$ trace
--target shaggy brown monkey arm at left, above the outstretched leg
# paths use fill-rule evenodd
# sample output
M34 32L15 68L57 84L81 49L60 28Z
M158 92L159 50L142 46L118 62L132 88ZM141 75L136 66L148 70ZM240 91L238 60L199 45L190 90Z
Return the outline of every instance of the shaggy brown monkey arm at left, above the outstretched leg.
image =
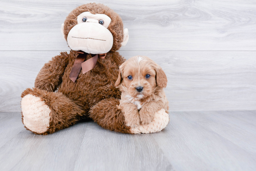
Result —
M69 61L67 52L53 57L38 73L35 87L46 91L55 91L62 82L62 76Z

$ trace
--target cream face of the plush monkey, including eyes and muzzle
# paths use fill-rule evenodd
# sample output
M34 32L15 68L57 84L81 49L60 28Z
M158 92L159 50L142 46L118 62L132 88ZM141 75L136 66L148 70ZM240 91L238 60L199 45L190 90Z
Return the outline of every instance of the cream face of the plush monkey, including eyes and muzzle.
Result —
M107 29L111 22L105 14L83 12L77 17L78 24L68 33L67 42L72 50L89 54L107 53L113 45L113 36Z

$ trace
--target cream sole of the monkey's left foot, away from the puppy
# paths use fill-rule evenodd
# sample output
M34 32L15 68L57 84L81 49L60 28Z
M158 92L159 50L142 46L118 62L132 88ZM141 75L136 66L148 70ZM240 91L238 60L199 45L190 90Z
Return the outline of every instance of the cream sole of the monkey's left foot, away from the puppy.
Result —
M38 134L42 134L49 128L49 106L39 97L27 94L21 99L23 123L26 128Z

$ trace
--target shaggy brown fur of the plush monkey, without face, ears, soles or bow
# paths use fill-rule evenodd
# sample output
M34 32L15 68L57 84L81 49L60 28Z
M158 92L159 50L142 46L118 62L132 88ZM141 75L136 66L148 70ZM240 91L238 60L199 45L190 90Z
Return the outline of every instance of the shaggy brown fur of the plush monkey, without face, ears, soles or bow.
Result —
M102 4L85 4L67 16L64 23L66 39L68 32L77 24L77 16L85 11L106 14L111 18L108 30L114 37L113 47L104 59L97 60L94 69L85 74L82 74L81 70L75 82L71 81L69 74L78 56L76 51L71 50L69 54L61 52L43 66L37 75L35 88L26 89L21 95L34 95L49 106L50 126L43 135L67 128L84 117L92 118L103 128L131 133L130 127L125 126L121 110L117 108L117 99L120 99L121 93L115 88L118 67L125 61L115 52L123 41L123 22L117 13ZM86 60L89 58L91 55L87 55Z

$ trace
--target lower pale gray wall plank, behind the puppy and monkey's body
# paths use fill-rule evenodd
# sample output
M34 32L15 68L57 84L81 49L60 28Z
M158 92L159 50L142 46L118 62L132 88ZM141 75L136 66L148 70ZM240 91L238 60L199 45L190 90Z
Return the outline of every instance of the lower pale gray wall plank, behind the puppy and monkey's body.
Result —
M0 51L0 111L20 111L20 95L59 51ZM152 58L165 71L170 111L256 110L252 51L120 51Z

